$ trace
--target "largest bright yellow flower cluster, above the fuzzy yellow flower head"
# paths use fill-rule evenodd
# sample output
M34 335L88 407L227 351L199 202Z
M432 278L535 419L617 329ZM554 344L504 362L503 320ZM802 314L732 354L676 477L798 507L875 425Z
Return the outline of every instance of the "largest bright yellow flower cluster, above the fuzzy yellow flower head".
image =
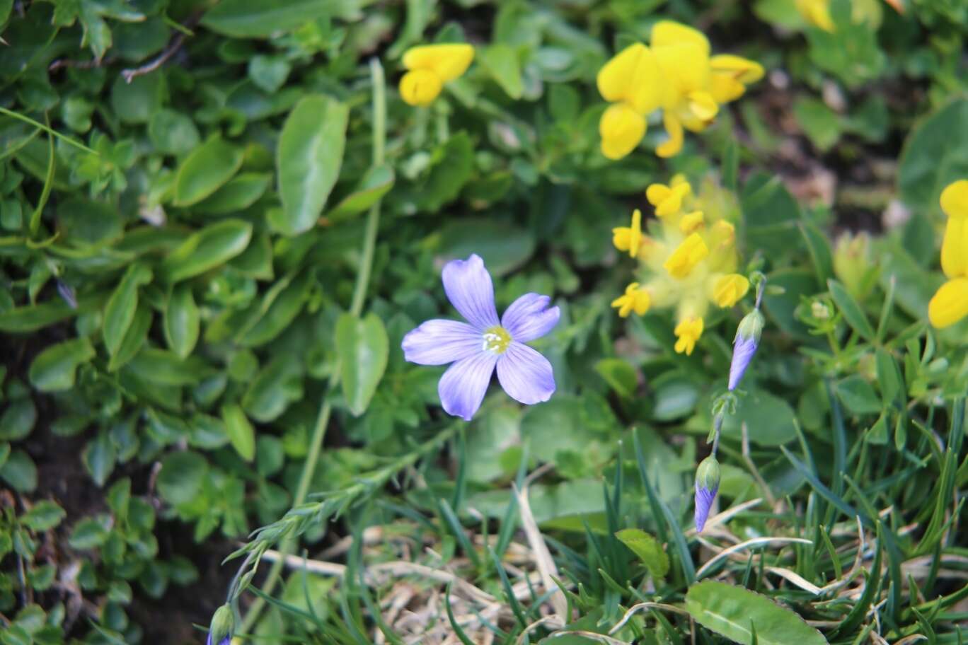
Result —
M669 138L655 152L673 157L682 149L683 129L706 129L719 105L739 99L762 77L759 63L711 56L709 40L692 27L657 22L650 46L630 44L598 72L598 91L611 103L598 124L602 154L618 160L632 152L646 134L646 118L661 108Z

